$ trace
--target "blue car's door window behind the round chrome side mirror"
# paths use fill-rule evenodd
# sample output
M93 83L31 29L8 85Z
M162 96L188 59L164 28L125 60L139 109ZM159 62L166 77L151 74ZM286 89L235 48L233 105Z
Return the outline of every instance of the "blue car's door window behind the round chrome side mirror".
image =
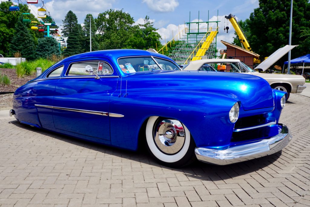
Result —
M102 61L79 62L70 65L67 75L94 75L94 73L97 75L111 75L113 74L113 69Z

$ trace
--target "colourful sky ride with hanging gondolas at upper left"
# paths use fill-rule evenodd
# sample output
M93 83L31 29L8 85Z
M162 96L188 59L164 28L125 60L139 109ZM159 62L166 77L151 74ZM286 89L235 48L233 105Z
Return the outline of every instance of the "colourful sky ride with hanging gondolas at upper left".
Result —
M8 1L11 1L11 0L8 0ZM12 11L12 12L20 11L20 8L19 8L20 0L17 0L17 1L18 1L18 5L15 6L12 3L12 5L9 7L9 11ZM47 10L46 6L44 5L44 1L43 0L41 1L42 1L42 7L38 9L37 17L41 18L42 20L40 20L39 22L32 21L30 13L22 13L23 23L29 24L32 30L45 33L44 37L55 38L59 44L59 49L61 47L65 47L65 41L64 41L64 38L62 38L62 36L59 34L58 26L55 24L55 21L50 16L50 12ZM38 0L26 0L26 2L27 4L38 4ZM30 5L28 5L28 7L32 9ZM47 15L47 12L48 12L48 15Z

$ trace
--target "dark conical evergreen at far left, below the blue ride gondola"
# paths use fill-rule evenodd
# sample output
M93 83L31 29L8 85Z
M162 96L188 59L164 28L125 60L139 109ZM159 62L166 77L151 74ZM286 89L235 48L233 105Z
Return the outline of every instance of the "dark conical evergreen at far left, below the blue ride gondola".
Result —
M15 24L15 31L10 44L11 55L14 55L15 52L20 52L22 57L33 60L35 58L34 39L29 29L23 24L22 15L20 15L19 20Z

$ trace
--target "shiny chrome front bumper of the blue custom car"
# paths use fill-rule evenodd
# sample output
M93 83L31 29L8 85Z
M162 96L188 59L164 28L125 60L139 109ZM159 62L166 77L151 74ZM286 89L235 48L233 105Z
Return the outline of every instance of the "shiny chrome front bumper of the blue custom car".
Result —
M269 139L230 146L226 150L196 147L195 154L197 159L202 162L226 165L271 155L282 150L291 139L289 128L283 125L281 132Z

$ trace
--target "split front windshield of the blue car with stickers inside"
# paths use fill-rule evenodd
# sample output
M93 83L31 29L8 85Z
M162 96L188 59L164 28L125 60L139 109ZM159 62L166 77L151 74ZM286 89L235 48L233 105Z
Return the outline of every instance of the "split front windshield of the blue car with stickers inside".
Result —
M118 65L124 73L137 73L150 70L180 70L172 61L162 58L143 56L118 59Z

